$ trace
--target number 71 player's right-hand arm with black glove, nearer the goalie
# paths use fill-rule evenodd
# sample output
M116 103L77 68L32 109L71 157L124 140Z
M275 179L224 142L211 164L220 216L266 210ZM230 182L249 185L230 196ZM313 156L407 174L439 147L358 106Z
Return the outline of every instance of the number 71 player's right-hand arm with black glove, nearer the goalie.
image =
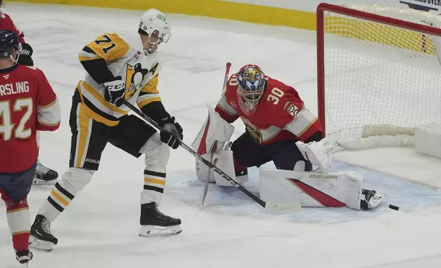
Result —
M149 83L144 85L136 99L136 104L143 113L149 116L149 118L155 120L157 124L160 124L160 126L168 131L168 133L161 132L161 140L171 148L176 149L179 146L179 143L175 137L183 139L183 130L181 125L178 122L175 122L175 117L170 116L170 113L168 113L164 105L162 105L159 94L160 92L157 90L158 78L159 75L155 75ZM169 133L172 133L173 136Z

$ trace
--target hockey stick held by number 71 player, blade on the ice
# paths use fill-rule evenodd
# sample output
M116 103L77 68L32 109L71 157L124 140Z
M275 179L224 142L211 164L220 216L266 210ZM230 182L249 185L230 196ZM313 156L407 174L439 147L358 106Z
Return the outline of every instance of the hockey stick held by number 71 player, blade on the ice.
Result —
M149 123L151 126L155 127L155 129L162 131L162 132L165 132L165 133L169 133L162 126L157 124L157 122L155 122L155 120L149 118L149 116L147 116L145 113L140 111L140 109L138 109L137 107L135 107L134 105L129 103L127 100L123 100L123 104L125 106L129 107L129 109L131 109L131 111L138 114L138 116L140 116L144 121ZM169 134L173 135L172 133L169 133ZM205 160L201 155L199 155L196 151L194 151L190 146L188 146L187 144L182 142L178 137L175 137L175 139L177 139L179 141L179 145L182 148L184 148L187 152L190 152L190 154L192 154L194 157L197 157L200 161L202 161L202 163L207 165L207 167L210 167L210 170L211 169L214 170L214 172L216 172L217 174L219 174L220 176L225 178L225 180L227 180L229 183L231 183L231 185L238 188L240 191L242 191L242 193L246 194L249 198L251 198L257 204L260 204L260 206L262 206L264 209L273 210L273 211L298 211L301 209L300 204L265 202L264 200L258 198L253 193L251 193L251 191L248 191L247 189L245 189L245 187L240 185L236 180L234 180L233 178L228 176L225 172L223 172L222 170L219 170L216 167L216 165L213 165L209 161Z

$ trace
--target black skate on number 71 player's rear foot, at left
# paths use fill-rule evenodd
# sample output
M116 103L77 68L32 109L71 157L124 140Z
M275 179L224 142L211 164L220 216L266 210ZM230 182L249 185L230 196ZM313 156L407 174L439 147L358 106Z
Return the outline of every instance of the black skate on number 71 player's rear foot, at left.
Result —
M57 245L58 239L51 234L51 222L43 215L35 217L34 224L31 226L31 236L29 246L36 250L51 252L53 246Z

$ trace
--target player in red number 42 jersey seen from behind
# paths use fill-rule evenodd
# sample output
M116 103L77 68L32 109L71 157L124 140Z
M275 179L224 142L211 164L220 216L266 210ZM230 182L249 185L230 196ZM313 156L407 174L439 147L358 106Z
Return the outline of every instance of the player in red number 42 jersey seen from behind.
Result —
M36 131L60 126L60 106L41 70L17 64L21 45L13 31L0 30L0 193L16 259L31 260L27 194L36 172Z

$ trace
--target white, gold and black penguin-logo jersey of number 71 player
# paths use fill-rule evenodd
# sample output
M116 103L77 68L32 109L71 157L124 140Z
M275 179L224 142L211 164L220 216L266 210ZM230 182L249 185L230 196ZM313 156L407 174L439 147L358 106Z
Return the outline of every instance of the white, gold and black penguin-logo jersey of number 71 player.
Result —
M125 81L125 99L140 109L161 101L157 83L162 64L156 52L144 55L142 49L131 46L118 34L104 34L84 47L79 61L87 71L86 79L77 85L81 102L86 105L88 116L98 122L115 126L130 111L125 105L109 103L102 83L114 77Z

